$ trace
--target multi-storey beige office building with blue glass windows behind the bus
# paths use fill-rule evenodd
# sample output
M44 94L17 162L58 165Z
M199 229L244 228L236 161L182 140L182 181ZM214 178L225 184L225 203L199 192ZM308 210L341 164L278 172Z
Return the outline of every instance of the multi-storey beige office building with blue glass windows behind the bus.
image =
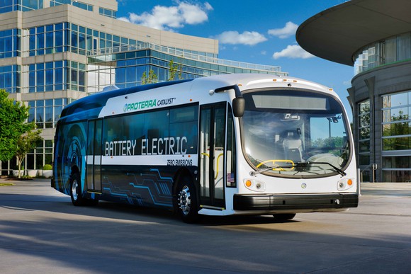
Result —
M43 146L25 169L52 163L55 125L64 105L111 86L227 73L287 75L280 67L218 59L218 40L117 20L115 0L0 1L0 89L30 105L28 122L43 130ZM13 161L1 163L2 173Z

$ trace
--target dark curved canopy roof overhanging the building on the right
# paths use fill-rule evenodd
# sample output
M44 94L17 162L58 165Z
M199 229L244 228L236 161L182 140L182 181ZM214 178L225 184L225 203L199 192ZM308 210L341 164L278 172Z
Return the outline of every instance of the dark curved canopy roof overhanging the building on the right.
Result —
M410 0L351 0L309 18L295 36L311 54L352 66L361 47L410 32L410 14Z

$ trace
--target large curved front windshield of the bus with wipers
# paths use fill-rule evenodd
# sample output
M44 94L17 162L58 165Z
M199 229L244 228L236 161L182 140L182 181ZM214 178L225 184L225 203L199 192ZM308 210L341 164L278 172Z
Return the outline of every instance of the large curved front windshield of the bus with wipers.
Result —
M344 174L349 123L337 100L313 91L244 93L242 142L257 173L307 178Z

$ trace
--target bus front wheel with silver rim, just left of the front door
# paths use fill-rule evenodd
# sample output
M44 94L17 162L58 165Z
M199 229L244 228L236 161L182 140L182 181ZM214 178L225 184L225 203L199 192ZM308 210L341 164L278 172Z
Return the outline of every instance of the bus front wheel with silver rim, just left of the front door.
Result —
M177 214L183 222L191 224L198 221L196 187L190 178L183 177L177 182L176 201L174 205Z

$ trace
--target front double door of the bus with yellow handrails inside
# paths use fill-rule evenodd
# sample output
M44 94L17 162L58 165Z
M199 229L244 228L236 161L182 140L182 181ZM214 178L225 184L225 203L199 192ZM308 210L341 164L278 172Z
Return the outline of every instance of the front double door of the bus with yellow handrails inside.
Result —
M200 204L225 208L225 105L203 105L200 114Z

